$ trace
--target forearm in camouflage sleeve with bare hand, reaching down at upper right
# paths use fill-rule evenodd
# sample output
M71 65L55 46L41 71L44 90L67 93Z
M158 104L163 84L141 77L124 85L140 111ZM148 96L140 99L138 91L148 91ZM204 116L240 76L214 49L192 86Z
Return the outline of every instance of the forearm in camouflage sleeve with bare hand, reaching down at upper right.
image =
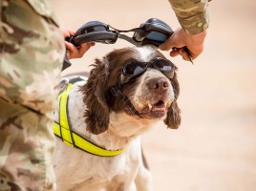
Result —
M189 60L188 54L182 47L186 46L192 59L203 52L203 42L209 25L208 1L169 0L182 28L160 46L160 50L169 51L171 56L181 54ZM186 3L185 3L186 2ZM178 48L178 49L174 49Z

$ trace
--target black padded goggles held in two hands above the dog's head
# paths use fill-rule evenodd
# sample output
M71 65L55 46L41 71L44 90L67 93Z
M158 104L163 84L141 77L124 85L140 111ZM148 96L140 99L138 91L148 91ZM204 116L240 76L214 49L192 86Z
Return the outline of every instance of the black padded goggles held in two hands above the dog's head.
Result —
M130 37L125 34L127 32L134 32L134 34ZM74 36L70 36L65 40L73 43L76 47L87 42L114 44L117 42L117 38L124 39L137 47L143 45L159 47L160 44L165 42L172 34L172 29L157 18L150 18L145 23L142 23L139 28L128 31L117 30L100 21L91 21L80 27ZM186 47L184 48L185 52L189 55L188 49ZM190 56L189 58L192 62ZM71 65L67 58L65 58L64 67L65 65Z

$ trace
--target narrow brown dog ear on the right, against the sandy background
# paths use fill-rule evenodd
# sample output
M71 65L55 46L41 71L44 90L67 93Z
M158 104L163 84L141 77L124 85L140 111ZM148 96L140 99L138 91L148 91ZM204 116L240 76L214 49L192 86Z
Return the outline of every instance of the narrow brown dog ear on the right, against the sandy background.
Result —
M180 85L177 79L177 73L175 72L174 77L171 79L171 83L174 90L174 101L168 108L167 117L164 119L165 124L168 128L178 129L181 124L181 109L178 106L177 99L180 95Z

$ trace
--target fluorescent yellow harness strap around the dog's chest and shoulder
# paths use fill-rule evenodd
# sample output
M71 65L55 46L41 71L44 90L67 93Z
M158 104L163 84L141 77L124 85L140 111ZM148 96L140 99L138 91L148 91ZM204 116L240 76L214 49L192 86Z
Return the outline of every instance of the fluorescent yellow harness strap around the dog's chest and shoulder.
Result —
M69 93L73 87L73 83L69 82L64 91L58 96L59 102L59 124L53 122L53 133L58 138L61 138L66 144L81 149L82 151L100 157L115 157L123 152L123 149L117 151L109 151L97 146L86 138L75 133L69 125L68 111L68 98Z

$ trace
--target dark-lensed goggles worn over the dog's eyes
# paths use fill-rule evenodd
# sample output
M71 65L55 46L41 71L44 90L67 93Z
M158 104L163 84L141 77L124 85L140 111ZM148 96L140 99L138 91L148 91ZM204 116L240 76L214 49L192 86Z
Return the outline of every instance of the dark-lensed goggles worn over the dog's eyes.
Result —
M173 78L175 66L174 64L162 57L156 57L150 62L139 62L138 60L129 61L123 68L122 68L122 80L121 84L125 84L140 74L143 74L148 67L155 68L159 70L162 74L165 74L168 78Z

